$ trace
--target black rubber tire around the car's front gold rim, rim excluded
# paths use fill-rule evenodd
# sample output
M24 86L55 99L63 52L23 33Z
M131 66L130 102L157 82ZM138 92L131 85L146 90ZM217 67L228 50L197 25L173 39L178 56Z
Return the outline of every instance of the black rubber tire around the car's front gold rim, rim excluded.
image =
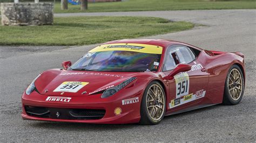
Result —
M163 93L163 98L161 98L161 103L159 102L158 104L162 104L163 100L164 103L163 105L161 105L161 107L163 108L163 110L160 110L161 108L158 108L159 113L160 113L161 117L159 116L157 120L154 120L149 113L149 110L147 108L147 92L150 90L150 88L156 85L158 87L160 87L161 92ZM152 109L153 110L153 109ZM156 111L157 112L157 111ZM143 98L142 98L142 103L140 104L140 121L139 124L141 125L156 125L159 124L161 120L163 120L164 116L165 116L165 112L166 112L166 97L165 97L165 91L163 89L163 87L161 86L161 84L157 81L152 81L149 85L147 85L146 90L144 91L143 94Z

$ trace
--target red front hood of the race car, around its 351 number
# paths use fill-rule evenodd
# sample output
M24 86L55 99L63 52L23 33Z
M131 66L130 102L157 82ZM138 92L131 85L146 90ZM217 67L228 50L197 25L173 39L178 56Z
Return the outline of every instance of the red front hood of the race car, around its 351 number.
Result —
M138 73L51 69L45 71L39 78L37 78L35 86L37 91L43 95L91 95L116 86L136 74ZM63 84L64 82L83 82L86 85L75 92L56 91L60 84Z

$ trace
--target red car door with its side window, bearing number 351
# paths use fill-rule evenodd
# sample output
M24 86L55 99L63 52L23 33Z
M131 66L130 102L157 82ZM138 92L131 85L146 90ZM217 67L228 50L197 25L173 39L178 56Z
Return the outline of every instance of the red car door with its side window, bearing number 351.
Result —
M205 66L197 61L197 56L190 47L172 45L167 47L163 71L169 75L180 63L191 66L190 71L178 73L169 79L169 110L177 111L190 106L199 105L205 97L208 73Z

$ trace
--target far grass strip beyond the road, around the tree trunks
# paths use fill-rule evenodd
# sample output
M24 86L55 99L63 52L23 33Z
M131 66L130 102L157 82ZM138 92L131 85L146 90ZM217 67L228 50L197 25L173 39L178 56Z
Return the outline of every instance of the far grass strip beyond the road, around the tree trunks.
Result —
M210 0L126 0L124 2L89 3L88 10L80 11L79 5L69 4L69 10L60 10L55 4L55 13L149 11L149 10L207 10L207 9L256 9L255 0L218 1Z

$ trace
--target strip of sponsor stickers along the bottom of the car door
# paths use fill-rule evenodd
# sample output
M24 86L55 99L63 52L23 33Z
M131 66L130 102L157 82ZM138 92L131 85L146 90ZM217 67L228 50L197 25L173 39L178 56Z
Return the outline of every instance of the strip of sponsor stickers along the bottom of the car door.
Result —
M191 101L195 101L199 98L203 98L203 97L205 97L205 92L206 91L204 91L204 90L199 90L199 91L196 92L196 94L188 94L188 95L176 98L176 99L172 99L171 103L169 103L169 108L170 109L175 108L175 107L180 106L182 104L185 104L185 103L188 103L188 102L191 102Z

